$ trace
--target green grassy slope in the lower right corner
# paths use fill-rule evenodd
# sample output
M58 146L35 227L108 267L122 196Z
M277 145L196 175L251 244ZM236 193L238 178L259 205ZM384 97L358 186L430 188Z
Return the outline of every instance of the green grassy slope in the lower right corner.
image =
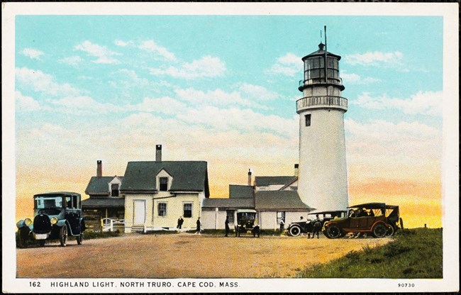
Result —
M349 252L338 260L313 265L299 273L306 278L441 279L442 229L399 230L387 245Z

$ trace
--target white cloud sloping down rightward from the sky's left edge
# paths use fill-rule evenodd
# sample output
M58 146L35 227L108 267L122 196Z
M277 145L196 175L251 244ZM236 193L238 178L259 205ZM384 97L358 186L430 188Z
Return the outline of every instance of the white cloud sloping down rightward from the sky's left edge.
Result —
M57 95L77 95L79 90L70 84L59 84L55 82L54 77L45 74L40 70L28 69L27 67L16 67L16 81L24 87L30 87L34 91L43 92L44 94ZM18 87L18 86L16 86Z

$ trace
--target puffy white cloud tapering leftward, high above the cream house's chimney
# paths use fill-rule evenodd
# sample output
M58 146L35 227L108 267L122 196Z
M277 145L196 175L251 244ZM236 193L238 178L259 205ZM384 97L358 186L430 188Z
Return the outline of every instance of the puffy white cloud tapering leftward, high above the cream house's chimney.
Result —
M167 67L165 69L150 69L150 74L156 76L170 76L182 79L222 77L226 71L226 64L218 57L209 55L200 60L184 62L180 67Z

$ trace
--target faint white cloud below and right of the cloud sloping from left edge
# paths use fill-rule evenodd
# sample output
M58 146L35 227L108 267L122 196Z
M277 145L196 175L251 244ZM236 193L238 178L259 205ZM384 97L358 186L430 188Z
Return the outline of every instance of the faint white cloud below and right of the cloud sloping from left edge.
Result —
M57 107L55 111L59 111L60 113L72 113L80 116L117 113L126 110L123 106L101 104L90 96L67 96L63 99L48 100L48 102Z

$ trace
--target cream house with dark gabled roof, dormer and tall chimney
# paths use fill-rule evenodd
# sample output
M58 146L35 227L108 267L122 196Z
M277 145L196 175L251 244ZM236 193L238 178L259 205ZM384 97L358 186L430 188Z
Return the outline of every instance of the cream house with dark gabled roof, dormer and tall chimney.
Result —
M160 148L160 157L159 157ZM125 233L172 230L179 216L183 230L196 227L204 199L209 198L207 163L162 161L128 162L120 192L125 199Z

